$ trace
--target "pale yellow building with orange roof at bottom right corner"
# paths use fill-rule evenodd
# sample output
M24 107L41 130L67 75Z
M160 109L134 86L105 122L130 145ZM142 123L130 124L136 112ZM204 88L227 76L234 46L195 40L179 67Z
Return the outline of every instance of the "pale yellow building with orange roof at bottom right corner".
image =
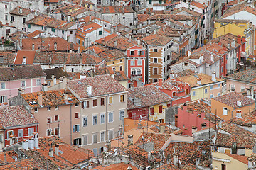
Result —
M226 154L220 152L212 152L213 169L231 170L231 169L248 169L247 156L238 154Z

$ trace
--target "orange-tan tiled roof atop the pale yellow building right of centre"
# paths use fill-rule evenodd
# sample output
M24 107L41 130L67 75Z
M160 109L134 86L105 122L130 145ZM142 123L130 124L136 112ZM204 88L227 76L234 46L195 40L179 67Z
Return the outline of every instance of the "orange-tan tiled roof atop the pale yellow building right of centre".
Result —
M211 76L209 76L207 74L203 74L203 73L178 77L178 79L183 81L183 82L188 83L189 85L191 85L191 87L195 87L195 86L198 86L197 77L201 78L201 85L215 83L215 81L211 80ZM220 78L217 78L217 77L215 79L216 79L216 81L224 81L223 79L220 79Z

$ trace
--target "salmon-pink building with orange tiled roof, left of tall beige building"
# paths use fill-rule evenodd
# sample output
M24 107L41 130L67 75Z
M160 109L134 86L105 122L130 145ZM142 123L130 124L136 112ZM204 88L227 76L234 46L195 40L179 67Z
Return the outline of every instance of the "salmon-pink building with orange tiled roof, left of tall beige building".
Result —
M55 135L70 145L79 145L80 101L70 91L40 91L11 98L11 106L23 105L39 121L41 137Z

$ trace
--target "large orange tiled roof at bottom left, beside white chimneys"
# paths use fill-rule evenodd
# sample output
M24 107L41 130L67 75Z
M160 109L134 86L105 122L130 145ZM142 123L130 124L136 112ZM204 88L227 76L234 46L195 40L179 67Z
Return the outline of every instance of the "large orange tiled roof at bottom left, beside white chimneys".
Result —
M51 145L55 148L55 144L59 144L59 156L53 154L54 157L48 155ZM55 150L55 149L54 149ZM41 169L68 169L68 167L77 166L92 157L92 151L75 147L62 142L56 137L44 137L39 139L39 149L21 151L33 161L38 163ZM55 152L55 151L54 151Z

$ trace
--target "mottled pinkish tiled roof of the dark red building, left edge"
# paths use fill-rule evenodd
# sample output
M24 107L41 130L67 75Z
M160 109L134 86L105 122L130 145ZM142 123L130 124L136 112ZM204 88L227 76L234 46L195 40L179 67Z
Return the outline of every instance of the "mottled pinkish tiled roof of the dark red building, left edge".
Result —
M38 123L38 120L32 118L23 106L10 106L0 108L0 123L7 128L35 124Z

